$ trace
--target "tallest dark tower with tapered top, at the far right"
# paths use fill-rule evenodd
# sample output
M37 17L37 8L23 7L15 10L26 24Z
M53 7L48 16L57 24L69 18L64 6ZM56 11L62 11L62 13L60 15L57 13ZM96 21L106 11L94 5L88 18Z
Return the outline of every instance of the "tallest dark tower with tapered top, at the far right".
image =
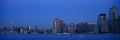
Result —
M119 28L119 16L118 16L118 8L113 6L109 10L109 30L112 33L117 33Z

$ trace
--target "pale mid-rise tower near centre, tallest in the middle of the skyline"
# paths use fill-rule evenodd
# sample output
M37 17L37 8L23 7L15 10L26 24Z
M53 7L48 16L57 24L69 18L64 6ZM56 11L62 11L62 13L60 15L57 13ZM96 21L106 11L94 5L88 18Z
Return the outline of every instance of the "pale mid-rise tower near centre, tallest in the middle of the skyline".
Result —
M58 18L55 18L53 21L53 32L54 33L63 33L64 21Z

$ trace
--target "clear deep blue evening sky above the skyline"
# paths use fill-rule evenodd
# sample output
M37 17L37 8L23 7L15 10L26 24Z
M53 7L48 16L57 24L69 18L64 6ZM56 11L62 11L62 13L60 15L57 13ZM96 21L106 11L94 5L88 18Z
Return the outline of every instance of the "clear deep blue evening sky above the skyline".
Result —
M65 23L96 23L100 13L108 14L119 0L2 0L0 24L52 27L55 17Z

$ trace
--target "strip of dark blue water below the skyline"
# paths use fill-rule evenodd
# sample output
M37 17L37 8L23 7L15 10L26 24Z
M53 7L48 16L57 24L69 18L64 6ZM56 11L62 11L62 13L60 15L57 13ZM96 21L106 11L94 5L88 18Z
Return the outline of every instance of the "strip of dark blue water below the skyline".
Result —
M0 34L0 40L120 40L120 34Z

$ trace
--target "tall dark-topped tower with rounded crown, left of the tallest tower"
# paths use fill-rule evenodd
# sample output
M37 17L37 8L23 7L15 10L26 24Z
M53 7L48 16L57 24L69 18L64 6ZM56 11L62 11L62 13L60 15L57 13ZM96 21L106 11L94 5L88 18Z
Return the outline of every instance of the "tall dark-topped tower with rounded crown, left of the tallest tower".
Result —
M109 32L107 17L106 17L105 13L101 13L98 16L97 27L98 27L98 32L99 33L107 33L107 32Z

